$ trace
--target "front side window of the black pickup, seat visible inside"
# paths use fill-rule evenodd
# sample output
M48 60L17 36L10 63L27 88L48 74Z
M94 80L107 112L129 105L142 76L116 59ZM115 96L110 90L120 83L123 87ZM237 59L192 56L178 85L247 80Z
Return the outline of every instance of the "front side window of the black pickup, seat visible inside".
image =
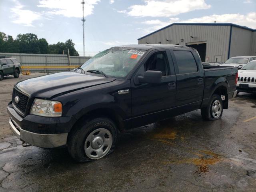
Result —
M166 52L157 52L152 54L144 64L145 71L161 71L162 76L170 75Z

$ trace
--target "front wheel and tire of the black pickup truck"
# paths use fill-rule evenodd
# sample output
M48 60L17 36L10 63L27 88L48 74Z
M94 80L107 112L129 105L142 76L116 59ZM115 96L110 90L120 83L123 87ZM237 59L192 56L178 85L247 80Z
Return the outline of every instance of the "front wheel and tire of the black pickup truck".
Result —
M78 123L68 135L68 152L78 162L100 159L114 151L117 127L108 118Z

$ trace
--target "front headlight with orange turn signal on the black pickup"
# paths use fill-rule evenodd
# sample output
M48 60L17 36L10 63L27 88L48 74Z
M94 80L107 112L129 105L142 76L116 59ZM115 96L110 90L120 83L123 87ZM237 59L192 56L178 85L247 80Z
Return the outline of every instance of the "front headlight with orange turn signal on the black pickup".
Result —
M35 99L30 109L30 114L44 117L60 117L62 104L58 101Z

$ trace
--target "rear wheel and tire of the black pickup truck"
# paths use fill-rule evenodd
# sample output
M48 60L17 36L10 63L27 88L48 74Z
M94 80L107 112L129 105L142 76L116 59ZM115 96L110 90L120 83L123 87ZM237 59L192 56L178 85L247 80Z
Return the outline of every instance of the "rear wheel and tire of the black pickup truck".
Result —
M201 108L201 115L204 120L218 120L222 117L223 102L218 94L214 94L205 108Z

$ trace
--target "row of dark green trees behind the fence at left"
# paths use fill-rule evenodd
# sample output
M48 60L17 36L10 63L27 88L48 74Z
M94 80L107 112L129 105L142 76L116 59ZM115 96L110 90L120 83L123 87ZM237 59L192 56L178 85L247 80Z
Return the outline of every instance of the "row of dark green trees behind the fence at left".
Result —
M7 36L0 32L0 52L8 53L40 53L40 54L62 54L63 50L67 53L69 49L70 56L79 56L74 48L72 39L65 43L48 44L45 38L38 39L36 34L26 33L18 34L14 40L12 36Z

